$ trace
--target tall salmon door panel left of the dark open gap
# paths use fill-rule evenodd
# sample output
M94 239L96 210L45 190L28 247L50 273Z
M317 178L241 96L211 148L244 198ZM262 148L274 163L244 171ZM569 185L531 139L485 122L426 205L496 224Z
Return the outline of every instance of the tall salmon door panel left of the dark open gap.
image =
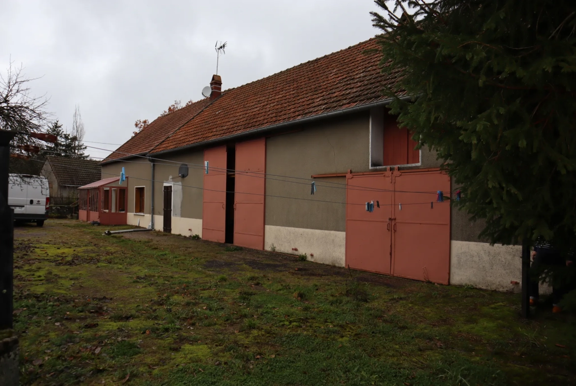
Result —
M223 243L226 230L226 146L204 150L203 193L202 238Z

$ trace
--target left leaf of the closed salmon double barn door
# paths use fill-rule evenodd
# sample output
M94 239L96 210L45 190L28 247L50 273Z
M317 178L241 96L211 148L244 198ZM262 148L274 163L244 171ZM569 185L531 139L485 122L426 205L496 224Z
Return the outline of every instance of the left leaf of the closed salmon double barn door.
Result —
M389 274L393 198L391 172L348 174L346 181L346 266ZM371 201L374 201L374 211L367 212L365 204Z

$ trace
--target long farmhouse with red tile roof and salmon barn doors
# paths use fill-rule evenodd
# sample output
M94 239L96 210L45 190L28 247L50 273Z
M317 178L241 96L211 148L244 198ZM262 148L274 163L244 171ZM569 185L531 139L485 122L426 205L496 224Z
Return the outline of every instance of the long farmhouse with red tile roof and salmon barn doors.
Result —
M224 91L214 75L209 97L158 117L102 162L102 178L125 170L127 223L514 289L518 247L479 240L482 224L450 207L457 187L434 152L415 150L388 114L381 89L396 78L366 53L377 47L370 39Z

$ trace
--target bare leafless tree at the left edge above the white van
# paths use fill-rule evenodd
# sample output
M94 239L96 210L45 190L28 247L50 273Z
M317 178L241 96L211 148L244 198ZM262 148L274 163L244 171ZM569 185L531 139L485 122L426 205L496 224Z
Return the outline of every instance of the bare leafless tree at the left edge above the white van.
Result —
M0 130L18 132L12 141L14 153L23 153L16 148L18 145L43 146L41 141L26 133L45 132L50 123L46 96L35 97L31 94L29 82L33 80L26 78L24 67L15 67L12 60L6 73L0 73ZM41 167L41 162L10 160L10 171L13 173L38 174Z

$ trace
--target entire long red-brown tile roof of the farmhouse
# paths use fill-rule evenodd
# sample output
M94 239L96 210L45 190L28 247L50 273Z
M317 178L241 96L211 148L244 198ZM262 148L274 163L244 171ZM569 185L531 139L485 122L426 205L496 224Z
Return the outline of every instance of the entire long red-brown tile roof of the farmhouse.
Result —
M370 49L376 51L365 52ZM146 133L148 142L134 146L138 150L126 152L148 151L153 154L177 150L253 129L384 101L387 97L382 95L383 85L393 85L399 73L382 74L381 54L377 49L377 40L373 38L270 77L225 90L215 100L206 98L195 102L189 108L194 107L196 114L180 128L172 125L170 130L161 129L159 120L165 117L160 117L153 122L158 121L153 129L149 129L152 124L146 127L149 129ZM129 148L131 142L135 143L138 135L128 140L119 151L125 151L122 149ZM120 156L113 154L103 162Z

